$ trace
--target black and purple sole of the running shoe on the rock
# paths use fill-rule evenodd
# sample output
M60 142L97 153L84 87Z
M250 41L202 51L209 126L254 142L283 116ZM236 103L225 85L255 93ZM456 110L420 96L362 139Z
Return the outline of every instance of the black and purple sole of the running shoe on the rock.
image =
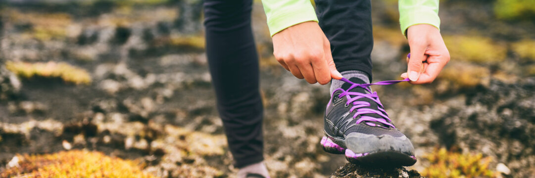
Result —
M324 136L320 144L323 150L333 154L345 154L351 164L370 166L412 166L416 163L416 157L399 151L378 151L366 153L354 153L335 143L334 138Z

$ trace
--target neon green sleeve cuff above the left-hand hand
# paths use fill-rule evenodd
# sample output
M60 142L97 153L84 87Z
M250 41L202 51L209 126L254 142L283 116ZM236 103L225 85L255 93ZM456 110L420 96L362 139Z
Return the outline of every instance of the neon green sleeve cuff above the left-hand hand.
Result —
M318 21L310 0L262 0L271 36L305 21Z

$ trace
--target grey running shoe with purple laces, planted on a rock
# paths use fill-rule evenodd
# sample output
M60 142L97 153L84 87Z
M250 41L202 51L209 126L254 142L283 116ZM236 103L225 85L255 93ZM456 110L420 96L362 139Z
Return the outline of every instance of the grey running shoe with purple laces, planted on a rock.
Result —
M388 117L372 85L394 84L406 80L367 84L349 80L332 92L324 119L325 136L320 142L326 152L345 154L359 165L411 166L416 163L414 146Z

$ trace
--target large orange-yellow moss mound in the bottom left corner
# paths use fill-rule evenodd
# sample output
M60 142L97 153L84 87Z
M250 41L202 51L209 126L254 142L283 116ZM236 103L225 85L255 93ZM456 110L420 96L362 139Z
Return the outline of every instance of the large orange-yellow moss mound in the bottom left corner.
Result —
M72 150L18 157L19 166L5 170L0 177L155 177L143 173L137 161L109 157L101 152Z

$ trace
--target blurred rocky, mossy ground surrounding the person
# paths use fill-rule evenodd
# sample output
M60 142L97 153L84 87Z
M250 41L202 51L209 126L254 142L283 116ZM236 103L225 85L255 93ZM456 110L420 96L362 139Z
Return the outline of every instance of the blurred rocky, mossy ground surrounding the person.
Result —
M397 1L372 1L373 81L409 52ZM260 1L265 158L272 177L328 177L328 86L279 66ZM432 84L373 87L430 177L535 175L535 1L441 1L451 61ZM236 170L204 53L200 0L0 3L0 177L228 177ZM284 138L284 139L282 139ZM299 150L299 151L296 151ZM106 173L106 174L104 174Z

